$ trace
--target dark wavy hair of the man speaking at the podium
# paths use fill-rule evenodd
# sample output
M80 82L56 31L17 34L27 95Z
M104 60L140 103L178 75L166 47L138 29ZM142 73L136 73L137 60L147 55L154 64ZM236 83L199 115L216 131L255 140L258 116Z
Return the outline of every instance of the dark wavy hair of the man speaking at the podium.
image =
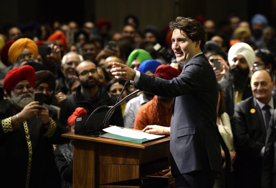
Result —
M179 16L175 19L175 21L171 21L169 26L172 31L175 29L183 31L193 42L201 41L200 49L201 51L203 50L206 43L206 34L198 21L192 19L191 17L185 18Z

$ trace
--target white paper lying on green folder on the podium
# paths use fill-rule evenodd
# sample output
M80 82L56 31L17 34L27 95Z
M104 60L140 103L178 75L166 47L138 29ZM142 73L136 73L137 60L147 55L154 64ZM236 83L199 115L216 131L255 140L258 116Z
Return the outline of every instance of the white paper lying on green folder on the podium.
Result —
M116 134L120 136L125 136L125 137L130 137L130 138L136 138L136 139L156 139L160 137L164 137L165 135L156 135L156 134L149 134L141 131L135 131L127 128L120 128L117 126L112 126L103 129L105 132L111 133L111 134Z

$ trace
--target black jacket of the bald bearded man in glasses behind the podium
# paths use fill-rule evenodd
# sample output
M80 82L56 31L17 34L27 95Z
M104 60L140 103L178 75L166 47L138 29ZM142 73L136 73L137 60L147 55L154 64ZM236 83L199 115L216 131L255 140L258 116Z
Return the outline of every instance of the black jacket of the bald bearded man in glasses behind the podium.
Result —
M94 100L87 101L81 93L81 85L77 87L76 93L67 97L61 104L60 108L60 123L63 126L67 125L67 120L77 107L83 107L87 111L87 115L91 114L97 107L102 105L114 105L116 97L110 95L104 88L99 86L98 97ZM102 108L99 112L107 111L107 108ZM123 127L124 121L121 107L118 106L110 118L110 125Z

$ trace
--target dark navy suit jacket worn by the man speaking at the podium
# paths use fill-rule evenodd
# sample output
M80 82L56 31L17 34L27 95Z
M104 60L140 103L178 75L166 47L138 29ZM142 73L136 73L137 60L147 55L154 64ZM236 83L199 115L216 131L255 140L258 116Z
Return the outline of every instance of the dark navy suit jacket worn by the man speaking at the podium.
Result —
M216 135L218 84L203 54L188 60L173 80L141 73L136 87L163 97L175 97L170 127L172 173L221 171L221 148Z

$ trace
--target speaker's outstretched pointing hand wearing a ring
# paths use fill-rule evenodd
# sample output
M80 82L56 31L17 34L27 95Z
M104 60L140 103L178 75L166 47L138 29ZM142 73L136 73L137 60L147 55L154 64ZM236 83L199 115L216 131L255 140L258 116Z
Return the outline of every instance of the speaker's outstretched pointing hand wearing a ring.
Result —
M112 67L110 72L116 79L134 80L136 71L129 68L127 65L114 62Z

